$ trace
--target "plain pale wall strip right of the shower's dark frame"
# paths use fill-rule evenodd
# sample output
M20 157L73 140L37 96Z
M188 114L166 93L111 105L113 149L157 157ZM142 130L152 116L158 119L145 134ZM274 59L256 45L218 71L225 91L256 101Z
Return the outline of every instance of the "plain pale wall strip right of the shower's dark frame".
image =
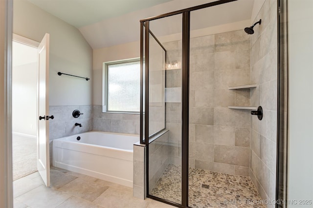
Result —
M288 19L288 199L313 200L313 1L289 0Z

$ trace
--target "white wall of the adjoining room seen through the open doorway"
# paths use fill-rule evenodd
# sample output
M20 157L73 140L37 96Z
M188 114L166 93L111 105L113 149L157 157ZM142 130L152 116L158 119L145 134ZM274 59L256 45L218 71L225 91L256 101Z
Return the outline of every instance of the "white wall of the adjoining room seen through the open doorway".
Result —
M13 42L12 131L37 136L37 48Z

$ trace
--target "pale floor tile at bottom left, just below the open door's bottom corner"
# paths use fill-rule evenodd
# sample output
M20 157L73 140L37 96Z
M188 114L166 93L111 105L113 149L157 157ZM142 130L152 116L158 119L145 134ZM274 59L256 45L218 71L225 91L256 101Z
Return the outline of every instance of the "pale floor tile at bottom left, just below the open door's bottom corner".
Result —
M70 195L44 185L16 198L31 208L55 208L65 202Z

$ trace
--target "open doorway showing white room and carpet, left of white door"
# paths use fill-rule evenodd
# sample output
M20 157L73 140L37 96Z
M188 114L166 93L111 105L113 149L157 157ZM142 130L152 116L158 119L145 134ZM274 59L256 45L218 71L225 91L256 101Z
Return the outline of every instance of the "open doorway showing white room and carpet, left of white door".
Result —
M37 50L12 42L13 181L37 171Z

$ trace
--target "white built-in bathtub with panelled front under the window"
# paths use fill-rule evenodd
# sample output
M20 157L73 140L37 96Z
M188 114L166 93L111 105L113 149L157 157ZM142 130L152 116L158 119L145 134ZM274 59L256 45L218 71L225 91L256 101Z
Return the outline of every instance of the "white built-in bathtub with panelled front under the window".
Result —
M52 164L133 187L133 144L138 141L138 135L100 131L55 139Z

